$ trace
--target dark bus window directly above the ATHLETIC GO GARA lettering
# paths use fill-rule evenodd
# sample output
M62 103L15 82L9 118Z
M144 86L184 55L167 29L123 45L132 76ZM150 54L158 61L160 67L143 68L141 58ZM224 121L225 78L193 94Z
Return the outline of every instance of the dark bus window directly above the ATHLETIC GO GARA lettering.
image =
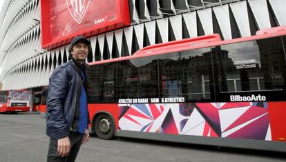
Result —
M118 63L119 98L159 97L158 59L144 57Z

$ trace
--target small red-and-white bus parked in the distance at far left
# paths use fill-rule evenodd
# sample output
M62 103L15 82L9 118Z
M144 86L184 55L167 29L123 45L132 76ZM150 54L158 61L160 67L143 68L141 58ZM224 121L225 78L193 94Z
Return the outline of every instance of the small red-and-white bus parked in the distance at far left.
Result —
M30 90L0 90L0 112L26 112L30 110Z

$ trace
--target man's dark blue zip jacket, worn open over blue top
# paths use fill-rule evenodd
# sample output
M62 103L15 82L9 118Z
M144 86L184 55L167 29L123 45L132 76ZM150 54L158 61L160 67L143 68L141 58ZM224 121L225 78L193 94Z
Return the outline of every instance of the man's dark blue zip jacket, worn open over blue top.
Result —
M53 139L68 136L70 130L76 132L74 117L79 110L79 95L83 81L79 74L79 63L70 60L59 65L50 76L46 110L46 134ZM88 66L85 63L85 68ZM79 112L78 112L79 113ZM89 118L88 118L89 119Z

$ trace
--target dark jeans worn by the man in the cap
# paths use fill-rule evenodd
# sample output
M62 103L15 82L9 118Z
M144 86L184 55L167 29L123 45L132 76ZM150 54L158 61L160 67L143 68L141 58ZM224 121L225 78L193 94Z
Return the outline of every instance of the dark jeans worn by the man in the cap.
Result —
M70 132L68 138L70 139L70 153L68 156L61 157L57 153L57 139L50 138L50 145L48 147L47 162L73 162L77 158L80 145L82 145L82 139L84 134L77 132Z

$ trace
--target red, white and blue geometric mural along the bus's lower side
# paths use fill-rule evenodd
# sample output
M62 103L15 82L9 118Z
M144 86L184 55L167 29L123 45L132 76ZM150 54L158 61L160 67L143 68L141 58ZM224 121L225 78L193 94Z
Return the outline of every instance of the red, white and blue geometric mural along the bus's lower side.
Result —
M120 104L121 130L271 140L266 102Z

